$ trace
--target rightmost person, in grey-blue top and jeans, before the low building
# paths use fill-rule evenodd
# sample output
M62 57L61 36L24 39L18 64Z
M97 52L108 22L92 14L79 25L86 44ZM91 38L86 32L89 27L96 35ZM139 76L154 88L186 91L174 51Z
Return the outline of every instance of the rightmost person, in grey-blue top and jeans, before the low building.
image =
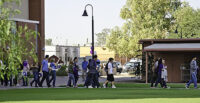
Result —
M192 59L190 62L190 81L186 84L186 88L189 88L191 83L194 83L194 88L197 89L197 62L196 62L196 57Z

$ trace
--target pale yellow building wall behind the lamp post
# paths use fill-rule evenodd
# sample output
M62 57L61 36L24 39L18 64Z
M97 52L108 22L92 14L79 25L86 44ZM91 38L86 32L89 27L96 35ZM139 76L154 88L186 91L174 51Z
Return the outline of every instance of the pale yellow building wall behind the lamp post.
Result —
M80 57L91 56L90 50L90 47L80 47ZM110 57L115 58L115 53L109 51L108 48L95 47L94 51L96 51L101 61L108 61Z

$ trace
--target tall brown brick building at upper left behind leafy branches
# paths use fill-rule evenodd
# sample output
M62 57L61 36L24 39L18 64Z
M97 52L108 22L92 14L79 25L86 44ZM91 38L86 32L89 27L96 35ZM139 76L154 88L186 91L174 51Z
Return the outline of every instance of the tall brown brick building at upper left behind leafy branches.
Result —
M19 9L20 14L11 20L15 21L16 26L27 25L29 29L39 32L39 35L33 42L36 45L38 60L44 58L45 47L45 0L21 0L21 5L12 4L14 9Z

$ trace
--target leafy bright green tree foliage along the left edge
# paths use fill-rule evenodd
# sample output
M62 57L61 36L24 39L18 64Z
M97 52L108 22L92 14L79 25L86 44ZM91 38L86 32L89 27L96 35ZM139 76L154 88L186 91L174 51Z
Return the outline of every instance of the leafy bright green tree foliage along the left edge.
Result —
M17 75L17 68L20 68L22 61L27 58L33 58L37 62L35 45L31 42L31 39L36 37L36 32L29 30L27 26L17 28L15 23L9 20L19 13L19 10L14 10L9 5L14 2L19 3L18 0L0 1L0 78L4 78L4 74L7 74L8 78Z

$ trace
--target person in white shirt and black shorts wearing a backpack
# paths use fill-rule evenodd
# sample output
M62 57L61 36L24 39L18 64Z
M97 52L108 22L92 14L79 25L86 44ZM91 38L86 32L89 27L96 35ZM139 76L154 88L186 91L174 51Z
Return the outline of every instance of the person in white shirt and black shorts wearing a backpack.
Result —
M113 58L109 58L109 62L108 62L108 75L107 75L107 80L106 82L103 84L103 87L106 88L106 84L108 82L112 83L112 88L116 88L115 83L114 83L114 68L113 68Z

